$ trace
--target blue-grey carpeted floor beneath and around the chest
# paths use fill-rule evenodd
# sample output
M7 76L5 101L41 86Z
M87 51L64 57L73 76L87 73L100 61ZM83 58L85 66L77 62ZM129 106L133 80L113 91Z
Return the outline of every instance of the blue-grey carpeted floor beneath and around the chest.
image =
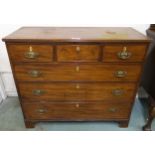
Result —
M135 101L128 128L119 128L115 122L49 122L37 123L26 129L17 97L7 98L0 106L1 131L141 131L146 121L145 104ZM155 121L152 124L155 130Z

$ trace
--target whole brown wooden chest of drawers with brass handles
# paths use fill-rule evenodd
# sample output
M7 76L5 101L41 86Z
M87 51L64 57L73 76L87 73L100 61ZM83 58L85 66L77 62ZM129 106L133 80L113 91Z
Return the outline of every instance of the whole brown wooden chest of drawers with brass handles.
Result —
M128 126L147 37L131 28L23 27L3 41L26 127L38 121Z

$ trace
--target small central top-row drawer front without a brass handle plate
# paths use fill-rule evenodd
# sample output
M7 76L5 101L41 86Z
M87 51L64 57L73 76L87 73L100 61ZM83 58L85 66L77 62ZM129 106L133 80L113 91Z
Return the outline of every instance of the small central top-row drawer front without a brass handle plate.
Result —
M101 48L97 45L59 45L57 60L59 62L86 61L94 62L100 59Z

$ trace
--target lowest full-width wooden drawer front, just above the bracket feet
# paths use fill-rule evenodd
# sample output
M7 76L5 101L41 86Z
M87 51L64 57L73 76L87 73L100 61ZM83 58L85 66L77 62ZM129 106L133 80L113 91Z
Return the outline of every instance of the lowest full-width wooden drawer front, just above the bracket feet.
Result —
M127 119L130 103L45 103L24 104L26 119L36 120L116 120Z

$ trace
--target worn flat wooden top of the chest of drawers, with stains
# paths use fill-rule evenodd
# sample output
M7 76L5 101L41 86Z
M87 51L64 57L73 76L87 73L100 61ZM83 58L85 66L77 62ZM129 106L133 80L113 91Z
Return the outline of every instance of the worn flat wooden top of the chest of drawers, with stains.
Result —
M129 27L22 27L3 38L3 41L149 42L149 39Z

